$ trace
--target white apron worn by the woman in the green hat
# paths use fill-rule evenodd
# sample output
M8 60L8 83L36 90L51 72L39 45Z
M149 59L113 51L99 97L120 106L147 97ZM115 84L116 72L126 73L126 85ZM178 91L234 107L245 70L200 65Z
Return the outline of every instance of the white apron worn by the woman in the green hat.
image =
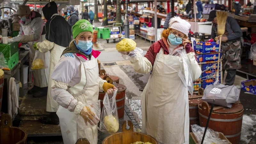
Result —
M81 81L74 87L70 87L67 91L72 94L76 100L83 103L97 101L99 97L99 68L97 59L93 56L91 60L81 61ZM60 129L64 144L75 144L77 139L86 138L91 144L97 144L98 127L82 130L76 122L74 112L68 111L67 108L59 107L57 115L60 119Z

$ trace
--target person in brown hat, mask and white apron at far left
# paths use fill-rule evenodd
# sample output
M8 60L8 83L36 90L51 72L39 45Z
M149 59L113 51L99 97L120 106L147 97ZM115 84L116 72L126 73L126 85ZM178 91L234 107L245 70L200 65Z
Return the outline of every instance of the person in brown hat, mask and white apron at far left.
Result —
M31 66L35 57L36 50L33 48L33 44L36 42L42 42L45 39L44 20L42 15L38 12L30 12L28 5L20 5L18 9L18 16L20 17L20 32L19 35L13 38L9 38L8 42L21 42L28 43L29 45L29 64ZM50 64L50 52L44 53L46 64ZM28 91L29 94L33 94L34 97L42 97L47 95L47 86L49 78L49 67L45 69L39 69L32 71L34 78L34 87Z

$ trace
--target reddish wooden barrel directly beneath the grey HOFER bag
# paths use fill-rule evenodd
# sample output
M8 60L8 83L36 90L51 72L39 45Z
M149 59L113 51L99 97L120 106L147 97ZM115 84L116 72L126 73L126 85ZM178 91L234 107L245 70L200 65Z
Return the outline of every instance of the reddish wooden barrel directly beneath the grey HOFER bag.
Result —
M205 101L198 103L200 126L206 126L211 106ZM243 113L244 107L241 102L236 102L232 108L214 105L208 127L223 133L232 144L239 144Z

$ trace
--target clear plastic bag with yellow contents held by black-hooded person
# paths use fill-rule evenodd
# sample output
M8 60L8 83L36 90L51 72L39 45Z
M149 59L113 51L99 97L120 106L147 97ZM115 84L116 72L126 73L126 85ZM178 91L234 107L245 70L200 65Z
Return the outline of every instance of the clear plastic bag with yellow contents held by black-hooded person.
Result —
M32 62L31 70L45 69L48 65L46 64L44 53L36 50L34 60Z

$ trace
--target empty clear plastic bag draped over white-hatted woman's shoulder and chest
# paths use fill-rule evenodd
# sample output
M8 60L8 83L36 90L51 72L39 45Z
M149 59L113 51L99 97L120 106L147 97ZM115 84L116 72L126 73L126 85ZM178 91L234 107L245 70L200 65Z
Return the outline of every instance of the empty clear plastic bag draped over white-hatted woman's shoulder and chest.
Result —
M180 47L172 51L169 55L176 56L166 61L168 66L178 72L178 75L182 81L182 84L188 89L188 92L193 95L193 75L190 66L190 61L187 56L187 52L184 47ZM177 57L180 61L180 67L177 67Z

